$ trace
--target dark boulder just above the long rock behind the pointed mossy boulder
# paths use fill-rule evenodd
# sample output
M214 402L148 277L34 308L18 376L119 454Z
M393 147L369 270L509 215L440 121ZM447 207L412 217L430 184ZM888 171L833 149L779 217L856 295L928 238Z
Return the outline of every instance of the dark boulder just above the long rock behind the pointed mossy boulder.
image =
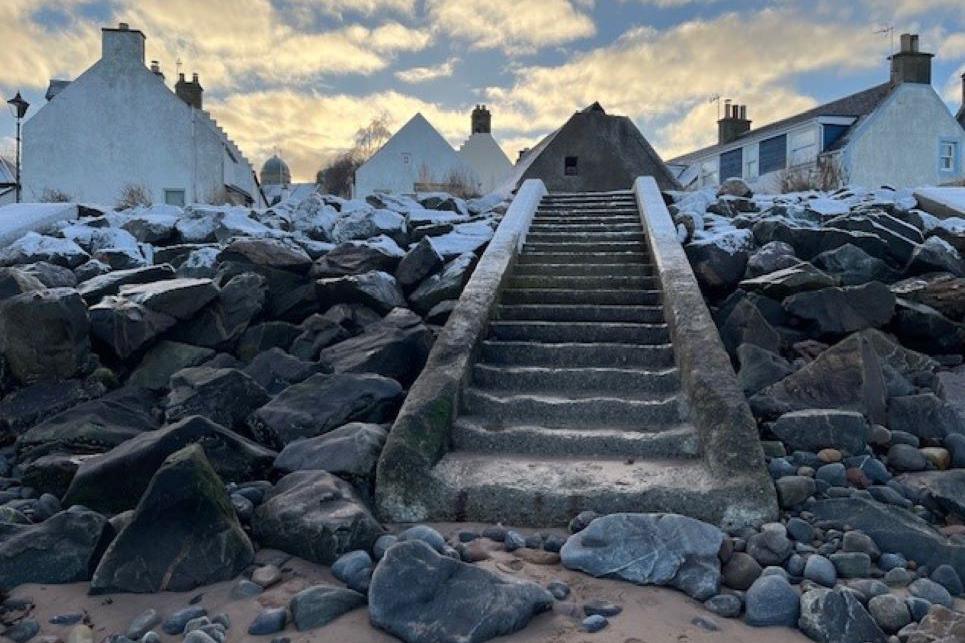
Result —
M49 453L103 453L158 428L157 397L135 387L122 388L47 418L17 438L21 459Z

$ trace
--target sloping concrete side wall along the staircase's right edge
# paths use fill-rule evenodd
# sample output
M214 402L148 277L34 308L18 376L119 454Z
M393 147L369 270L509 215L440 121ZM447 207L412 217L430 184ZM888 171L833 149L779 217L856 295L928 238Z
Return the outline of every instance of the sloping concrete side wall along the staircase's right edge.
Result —
M722 477L766 475L757 423L657 183L652 177L640 177L633 191L663 285L664 315L689 420L700 436L705 461L712 473ZM772 488L769 480L764 488Z

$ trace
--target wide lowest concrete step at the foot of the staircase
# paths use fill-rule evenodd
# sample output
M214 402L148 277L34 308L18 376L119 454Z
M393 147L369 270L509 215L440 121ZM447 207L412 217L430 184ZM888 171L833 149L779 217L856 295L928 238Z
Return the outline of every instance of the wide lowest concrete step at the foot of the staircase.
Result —
M700 459L538 457L455 451L433 468L452 518L520 526L566 525L581 511L680 513L719 524L754 486L721 480Z

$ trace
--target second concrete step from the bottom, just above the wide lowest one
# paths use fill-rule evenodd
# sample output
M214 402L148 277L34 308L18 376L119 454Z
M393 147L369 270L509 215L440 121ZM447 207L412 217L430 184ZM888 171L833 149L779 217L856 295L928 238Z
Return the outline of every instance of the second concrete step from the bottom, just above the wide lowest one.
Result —
M610 456L616 458L694 458L700 453L697 432L681 424L656 433L604 429L548 429L539 425L493 427L486 419L465 415L452 427L455 449L475 453L538 457Z

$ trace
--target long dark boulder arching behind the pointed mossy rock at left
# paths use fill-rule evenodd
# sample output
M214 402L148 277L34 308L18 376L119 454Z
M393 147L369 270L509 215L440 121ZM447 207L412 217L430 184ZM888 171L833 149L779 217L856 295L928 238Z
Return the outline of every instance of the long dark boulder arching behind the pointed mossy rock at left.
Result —
M84 505L115 514L132 509L165 459L200 444L212 468L225 482L262 480L276 454L210 420L192 416L156 431L142 433L78 468L63 504Z

